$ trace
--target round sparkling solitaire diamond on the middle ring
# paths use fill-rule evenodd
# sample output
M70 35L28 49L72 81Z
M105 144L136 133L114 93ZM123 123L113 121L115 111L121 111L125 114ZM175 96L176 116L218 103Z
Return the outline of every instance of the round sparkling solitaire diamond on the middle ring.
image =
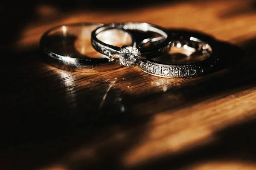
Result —
M137 48L131 46L122 47L119 54L119 60L122 65L127 67L134 67L140 63L140 51Z

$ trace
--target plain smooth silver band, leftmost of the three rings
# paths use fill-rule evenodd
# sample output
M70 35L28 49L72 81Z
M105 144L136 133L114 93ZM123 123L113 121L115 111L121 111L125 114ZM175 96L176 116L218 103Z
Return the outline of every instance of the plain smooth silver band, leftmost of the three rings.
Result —
M67 25L63 25L63 26L66 26L69 29L72 27L81 26L81 27L84 27L84 29L86 29L86 27L88 27L88 26L90 26L90 27L95 26L97 28L97 27L100 27L103 25L104 24L102 24L102 23L73 23L73 24L67 24ZM58 30L63 26L57 26L57 27L49 29L41 37L40 48L42 51L44 51L45 54L47 54L47 55L44 55L44 59L46 59L46 61L50 65L52 65L56 68L60 68L60 69L68 70L68 71L78 71L78 72L109 71L109 70L113 70L113 69L121 67L121 65L119 65L119 61L117 59L109 59L108 56L99 57L99 58L69 57L68 59L71 62L67 62L66 56L56 54L54 51L50 51L49 49L47 49L47 45L45 44L47 36L52 31ZM90 36L90 34L89 34L89 36ZM130 36L132 37L132 40L134 40L134 38L131 34L130 34Z

